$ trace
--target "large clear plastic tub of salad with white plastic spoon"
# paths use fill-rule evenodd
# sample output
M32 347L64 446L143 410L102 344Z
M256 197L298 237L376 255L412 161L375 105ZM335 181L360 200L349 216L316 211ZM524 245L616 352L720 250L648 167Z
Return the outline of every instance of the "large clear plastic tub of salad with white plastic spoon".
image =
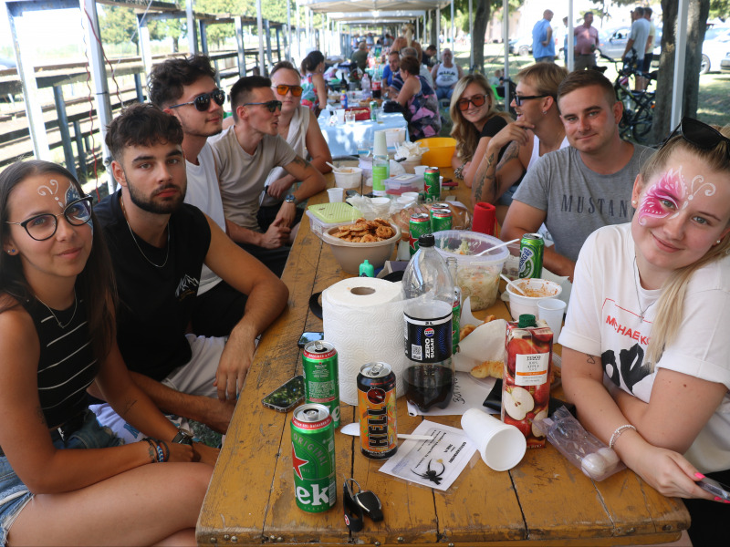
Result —
M499 274L502 273L509 251L502 247L494 253L474 255L502 242L485 233L463 230L435 232L433 237L436 240L436 250L444 259L456 257L456 284L462 290L462 298L471 296L472 311L484 310L494 304L499 288Z

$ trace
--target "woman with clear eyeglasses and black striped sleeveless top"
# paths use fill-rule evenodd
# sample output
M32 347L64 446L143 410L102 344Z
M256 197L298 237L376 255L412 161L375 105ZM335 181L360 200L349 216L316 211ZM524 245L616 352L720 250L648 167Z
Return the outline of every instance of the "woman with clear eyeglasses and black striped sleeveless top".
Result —
M0 238L0 543L195 544L213 468L172 442L121 359L91 198L56 164L16 162L0 173ZM92 383L150 437L120 446L100 428Z

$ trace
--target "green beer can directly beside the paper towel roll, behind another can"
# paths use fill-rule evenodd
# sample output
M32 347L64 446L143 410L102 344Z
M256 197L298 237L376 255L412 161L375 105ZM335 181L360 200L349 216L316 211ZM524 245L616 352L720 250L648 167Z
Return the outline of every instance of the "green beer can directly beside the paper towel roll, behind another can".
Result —
M308 403L329 408L334 428L339 428L339 376L335 346L316 340L304 346L304 395Z

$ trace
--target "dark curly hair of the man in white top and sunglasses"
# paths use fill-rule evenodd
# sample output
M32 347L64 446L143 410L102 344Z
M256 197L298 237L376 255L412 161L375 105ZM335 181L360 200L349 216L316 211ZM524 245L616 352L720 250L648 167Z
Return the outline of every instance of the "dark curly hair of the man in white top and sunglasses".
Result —
M206 76L215 79L215 69L207 56L167 59L152 67L147 86L150 102L167 108L183 97L183 86L190 86Z

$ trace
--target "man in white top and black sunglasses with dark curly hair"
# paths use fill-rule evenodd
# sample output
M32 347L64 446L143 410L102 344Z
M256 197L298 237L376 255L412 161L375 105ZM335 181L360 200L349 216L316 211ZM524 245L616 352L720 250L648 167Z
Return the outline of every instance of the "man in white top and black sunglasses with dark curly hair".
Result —
M221 132L225 93L215 83L208 57L167 59L152 67L150 101L180 120L188 190L185 203L208 215L225 232L218 173L208 137ZM193 308L193 333L227 336L244 315L245 295L203 265Z

